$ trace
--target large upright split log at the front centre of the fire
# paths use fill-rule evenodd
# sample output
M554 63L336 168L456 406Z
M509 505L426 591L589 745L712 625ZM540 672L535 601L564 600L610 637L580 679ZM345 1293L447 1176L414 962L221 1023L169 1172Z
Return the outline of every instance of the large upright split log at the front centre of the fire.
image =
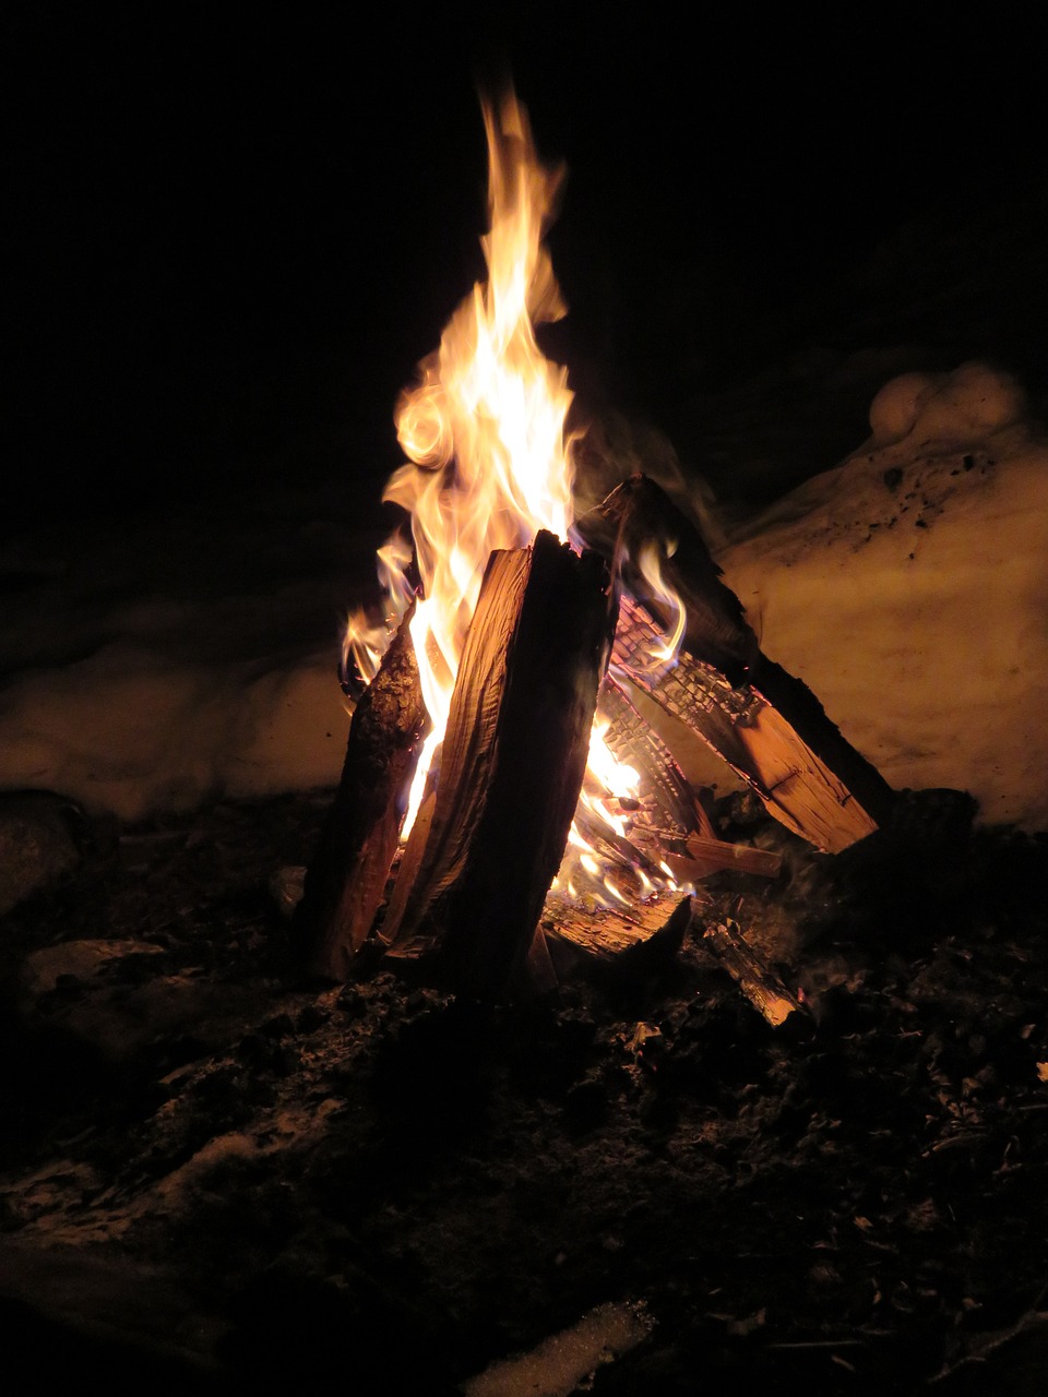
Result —
M486 997L523 974L585 771L615 629L608 570L541 531L492 553L465 640L432 821L380 936Z

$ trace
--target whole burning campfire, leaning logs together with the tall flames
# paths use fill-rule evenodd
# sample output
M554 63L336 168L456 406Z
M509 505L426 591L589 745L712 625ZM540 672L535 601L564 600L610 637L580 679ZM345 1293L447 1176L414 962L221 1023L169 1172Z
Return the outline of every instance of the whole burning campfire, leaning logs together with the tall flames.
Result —
M563 314L542 240L562 172L513 98L483 113L488 281L397 408L384 497L409 536L380 549L383 616L348 629L361 693L300 916L327 978L373 946L496 996L679 926L717 869L778 870L717 837L639 696L820 849L878 828L891 792L651 479L573 517L572 393L535 338Z

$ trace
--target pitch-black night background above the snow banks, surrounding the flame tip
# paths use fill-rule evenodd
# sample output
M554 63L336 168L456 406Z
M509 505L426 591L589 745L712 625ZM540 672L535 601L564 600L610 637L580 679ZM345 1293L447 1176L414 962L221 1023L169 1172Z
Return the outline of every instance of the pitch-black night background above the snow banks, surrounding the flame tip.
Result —
M692 458L682 404L808 342L938 337L1037 379L1033 231L998 321L995 292L970 316L954 295L945 328L925 295L936 229L953 253L971 229L970 271L1019 256L981 229L1000 242L988 210L1021 222L1042 187L1019 7L437 11L8 13L8 527L205 509L289 469L377 493L397 391L481 272L476 82L502 71L570 169L549 348L583 411L646 416ZM896 271L857 281L886 246ZM889 284L901 321L878 324Z

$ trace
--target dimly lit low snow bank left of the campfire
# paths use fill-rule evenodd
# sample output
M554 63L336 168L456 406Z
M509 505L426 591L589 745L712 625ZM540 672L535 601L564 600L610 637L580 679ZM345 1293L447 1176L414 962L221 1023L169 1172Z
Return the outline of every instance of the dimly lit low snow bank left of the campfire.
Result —
M333 785L349 721L333 654L271 669L173 665L115 643L32 671L0 696L0 787L136 820L211 795Z

